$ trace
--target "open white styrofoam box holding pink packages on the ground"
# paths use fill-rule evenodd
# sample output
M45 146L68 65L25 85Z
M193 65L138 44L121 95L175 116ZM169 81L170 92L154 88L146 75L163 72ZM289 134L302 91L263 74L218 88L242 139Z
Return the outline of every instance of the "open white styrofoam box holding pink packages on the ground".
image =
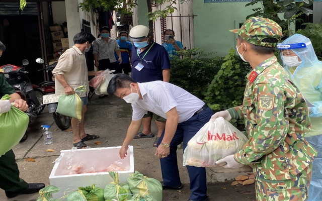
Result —
M56 159L55 165L49 176L50 185L59 187L59 191L53 193L53 198L60 198L78 187L92 186L105 188L113 181L108 172L95 172L83 174L66 174L68 161L72 159L72 164L82 163L84 169L93 166L95 170L106 169L115 161L122 162L122 167L127 171L118 171L120 183L127 182L130 174L134 173L133 146L129 146L127 155L124 159L120 158L119 150L121 147L102 147L92 149L62 150ZM70 157L72 156L72 157ZM65 192L66 191L66 192Z

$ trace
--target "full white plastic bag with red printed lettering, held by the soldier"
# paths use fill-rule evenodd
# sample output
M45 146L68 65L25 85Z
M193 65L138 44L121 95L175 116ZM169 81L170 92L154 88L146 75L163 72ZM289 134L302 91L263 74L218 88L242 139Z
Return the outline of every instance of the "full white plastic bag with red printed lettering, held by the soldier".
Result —
M206 123L184 151L183 166L216 166L216 161L243 148L247 137L222 117Z

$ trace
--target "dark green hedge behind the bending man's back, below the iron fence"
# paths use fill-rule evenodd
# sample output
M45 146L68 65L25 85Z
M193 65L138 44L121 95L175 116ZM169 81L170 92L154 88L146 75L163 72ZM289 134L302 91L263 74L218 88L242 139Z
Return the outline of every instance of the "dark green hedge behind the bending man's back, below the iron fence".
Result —
M198 48L181 50L178 54L181 57L171 59L170 82L203 99L201 93L207 90L213 76L220 69L223 58L209 58L214 52L205 54Z

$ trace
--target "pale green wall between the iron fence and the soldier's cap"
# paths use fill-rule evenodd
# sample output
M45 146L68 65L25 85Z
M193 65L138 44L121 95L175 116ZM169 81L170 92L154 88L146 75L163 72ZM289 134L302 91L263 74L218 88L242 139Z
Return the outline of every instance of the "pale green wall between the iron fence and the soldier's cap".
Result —
M236 34L230 29L238 29L246 17L254 13L247 3L204 3L193 1L195 47L205 52L216 52L225 56L236 46ZM255 7L257 8L257 7Z

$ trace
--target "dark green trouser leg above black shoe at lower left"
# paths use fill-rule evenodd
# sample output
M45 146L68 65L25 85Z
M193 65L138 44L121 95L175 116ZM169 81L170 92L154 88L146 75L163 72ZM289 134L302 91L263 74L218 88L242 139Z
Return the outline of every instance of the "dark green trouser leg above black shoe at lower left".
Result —
M19 169L13 150L0 156L0 188L6 191L21 191L28 183L19 177Z

